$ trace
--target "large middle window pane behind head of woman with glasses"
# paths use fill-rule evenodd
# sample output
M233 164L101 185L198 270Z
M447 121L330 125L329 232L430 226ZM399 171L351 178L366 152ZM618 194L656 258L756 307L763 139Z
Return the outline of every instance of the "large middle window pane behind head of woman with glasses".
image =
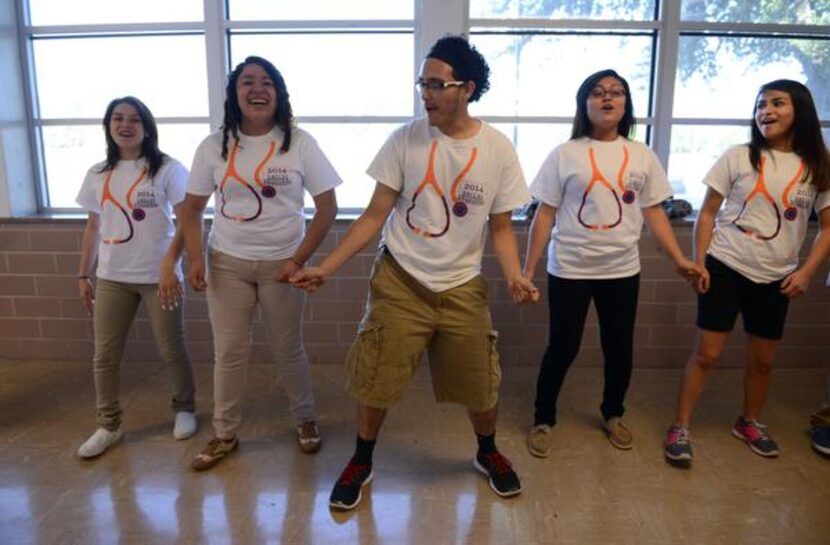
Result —
M574 97L592 73L614 67L628 80L634 114L648 116L651 36L475 35L490 64L481 115L574 115ZM599 54L601 53L601 54Z

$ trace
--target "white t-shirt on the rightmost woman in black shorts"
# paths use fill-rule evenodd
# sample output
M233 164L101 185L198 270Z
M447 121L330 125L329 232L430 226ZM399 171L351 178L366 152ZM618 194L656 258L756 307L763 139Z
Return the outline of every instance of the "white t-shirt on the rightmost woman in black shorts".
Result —
M703 183L725 197L707 253L753 282L768 284L798 267L810 212L830 206L830 191L818 194L799 183L804 167L795 153L764 150L761 159L763 176L749 162L749 146L732 147Z

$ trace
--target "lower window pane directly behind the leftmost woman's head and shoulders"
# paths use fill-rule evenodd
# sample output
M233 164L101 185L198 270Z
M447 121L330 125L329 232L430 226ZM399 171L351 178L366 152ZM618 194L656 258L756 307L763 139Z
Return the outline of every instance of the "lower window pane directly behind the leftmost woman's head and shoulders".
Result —
M196 147L209 130L202 124L160 124L159 144L162 151L190 169ZM87 170L106 158L103 129L92 125L48 126L42 128L42 135L49 191L47 206L77 208L75 197Z

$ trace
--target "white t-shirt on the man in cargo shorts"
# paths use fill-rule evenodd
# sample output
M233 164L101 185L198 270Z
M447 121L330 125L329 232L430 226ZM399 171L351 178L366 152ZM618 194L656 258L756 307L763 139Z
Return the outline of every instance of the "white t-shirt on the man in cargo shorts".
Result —
M367 173L400 192L381 244L434 292L477 276L489 215L530 200L513 145L483 121L463 140L426 118L411 121L389 137Z

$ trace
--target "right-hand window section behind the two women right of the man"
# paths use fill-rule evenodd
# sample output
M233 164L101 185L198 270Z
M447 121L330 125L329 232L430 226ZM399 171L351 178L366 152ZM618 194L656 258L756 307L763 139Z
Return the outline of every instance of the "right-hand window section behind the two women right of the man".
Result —
M603 68L629 81L636 138L696 208L712 163L748 140L764 82L804 82L830 119L828 0L470 0L470 18L493 68L477 112L512 122L528 179L568 138L579 84Z

